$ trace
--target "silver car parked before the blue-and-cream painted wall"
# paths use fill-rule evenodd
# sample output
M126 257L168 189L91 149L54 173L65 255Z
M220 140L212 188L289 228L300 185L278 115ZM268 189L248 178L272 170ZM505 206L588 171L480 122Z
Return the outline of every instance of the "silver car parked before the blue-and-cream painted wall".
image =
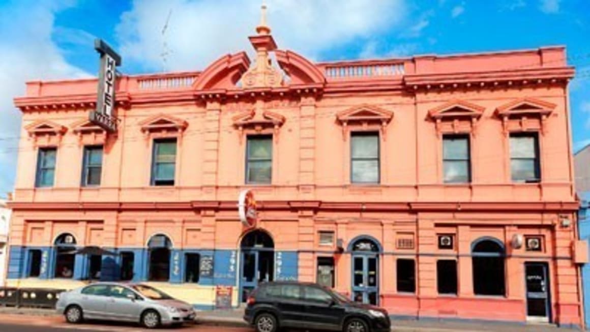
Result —
M55 310L68 323L84 319L131 321L148 328L195 319L192 306L143 284L96 282L60 294Z

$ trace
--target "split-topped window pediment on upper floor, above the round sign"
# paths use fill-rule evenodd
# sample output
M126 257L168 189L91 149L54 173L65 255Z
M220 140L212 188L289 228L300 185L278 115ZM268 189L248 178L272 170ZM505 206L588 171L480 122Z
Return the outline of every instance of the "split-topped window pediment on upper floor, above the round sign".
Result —
M281 114L272 111L249 110L232 117L234 127L240 134L240 143L244 139L245 132L273 133L275 140L286 118Z

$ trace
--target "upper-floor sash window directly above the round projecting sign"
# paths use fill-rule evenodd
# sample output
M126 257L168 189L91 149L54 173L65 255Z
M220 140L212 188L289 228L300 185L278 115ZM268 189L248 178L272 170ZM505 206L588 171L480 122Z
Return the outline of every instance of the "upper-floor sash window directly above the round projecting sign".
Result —
M248 136L246 183L270 183L273 173L273 136Z

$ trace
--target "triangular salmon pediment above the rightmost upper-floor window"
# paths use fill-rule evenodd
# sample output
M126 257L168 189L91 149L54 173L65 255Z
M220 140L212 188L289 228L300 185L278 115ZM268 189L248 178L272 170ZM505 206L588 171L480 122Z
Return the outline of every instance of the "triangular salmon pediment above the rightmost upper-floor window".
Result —
M545 123L555 107L556 104L548 101L525 97L498 107L495 115L502 120L505 135L527 130L539 130L545 134Z

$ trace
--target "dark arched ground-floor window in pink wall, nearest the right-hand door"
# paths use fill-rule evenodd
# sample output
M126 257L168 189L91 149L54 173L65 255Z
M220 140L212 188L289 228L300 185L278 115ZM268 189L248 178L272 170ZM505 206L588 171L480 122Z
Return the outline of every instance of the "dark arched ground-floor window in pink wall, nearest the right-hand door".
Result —
M504 295L504 245L494 238L471 244L473 292L476 295Z

